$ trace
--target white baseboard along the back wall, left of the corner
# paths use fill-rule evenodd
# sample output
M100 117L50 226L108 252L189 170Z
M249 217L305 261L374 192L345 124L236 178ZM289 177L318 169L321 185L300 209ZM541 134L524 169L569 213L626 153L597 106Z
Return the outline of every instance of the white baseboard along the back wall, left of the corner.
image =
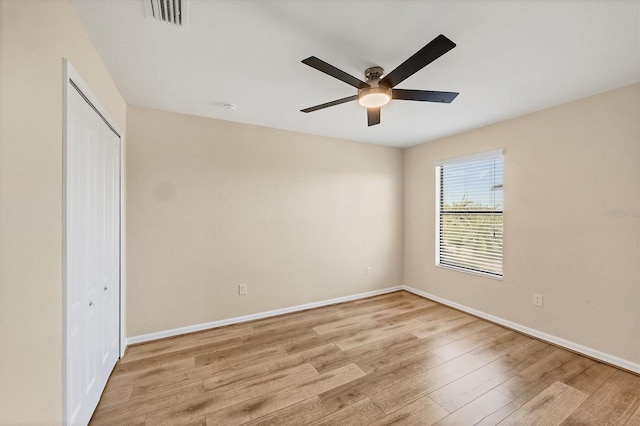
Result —
M336 303L351 302L353 300L366 299L367 297L378 296L386 293L393 293L394 291L402 290L402 288L403 288L402 286L389 287L382 290L374 290L374 291L368 291L365 293L353 294L350 296L336 297L334 299L327 299L319 302L305 303L302 305L291 306L288 308L274 309L273 311L259 312L256 314L228 318L228 319L223 319L219 321L212 321L212 322L207 322L203 324L190 325L187 327L174 328L171 330L159 331L156 333L142 334L140 336L133 336L133 337L127 338L126 344L128 346L128 345L133 345L137 343L148 342L151 340L158 340L158 339L164 339L167 337L179 336L181 334L193 333L195 331L202 331L202 330L208 330L211 328L222 327L225 325L238 324L238 323L247 322L247 321L254 321L258 319L269 318L276 315L289 314L291 312L304 311L306 309L313 309L313 308L319 308L322 306L335 305Z

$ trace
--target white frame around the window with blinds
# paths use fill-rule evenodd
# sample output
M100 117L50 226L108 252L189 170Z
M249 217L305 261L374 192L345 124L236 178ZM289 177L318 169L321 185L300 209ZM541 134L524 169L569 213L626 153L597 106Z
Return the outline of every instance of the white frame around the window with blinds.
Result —
M482 276L485 278L491 278L491 279L495 279L495 280L503 280L504 278L504 230L503 230L503 235L502 235L502 251L501 251L501 263L502 263L502 273L501 274L497 274L495 272L490 272L490 271L483 271L483 270L479 270L479 269L472 269L472 268L467 268L464 266L457 266L457 265L451 265L448 263L442 263L440 258L440 250L441 250L441 240L442 240L442 234L441 234L441 217L442 217L442 213L441 213L441 194L442 194L442 167L443 166L447 166L447 165L456 165L456 164L463 164L463 163L469 163L469 162L473 162L473 161L479 161L479 160L491 160L491 159L495 159L501 157L502 158L502 173L503 173L503 183L504 183L504 151L502 149L497 149L497 150L492 150L492 151L487 151L487 152L481 152L478 154L473 154L473 155L468 155L468 156L464 156L464 157L456 157L456 158L451 158L451 159L447 159L447 160L442 160L442 161L436 161L434 163L435 166L435 183L436 183L436 187L435 187L435 201L436 201L436 220L435 220L435 266L439 267L439 268L443 268L443 269L449 269L449 270L454 270L454 271L459 271L459 272L464 272L467 274L472 274L472 275L478 275L478 276ZM503 185L503 189L504 189L504 185ZM493 215L501 215L503 218L503 226L504 226L504 192L502 194L502 210L498 213L498 212L482 212L482 213L468 213L468 214L493 214Z

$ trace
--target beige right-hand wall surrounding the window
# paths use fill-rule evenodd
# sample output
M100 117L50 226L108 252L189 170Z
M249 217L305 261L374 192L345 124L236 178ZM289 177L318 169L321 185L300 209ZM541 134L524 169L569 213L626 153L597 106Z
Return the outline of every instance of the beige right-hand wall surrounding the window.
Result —
M640 362L639 91L624 87L407 149L404 284ZM434 161L497 148L504 280L434 266ZM532 305L534 292L544 308Z

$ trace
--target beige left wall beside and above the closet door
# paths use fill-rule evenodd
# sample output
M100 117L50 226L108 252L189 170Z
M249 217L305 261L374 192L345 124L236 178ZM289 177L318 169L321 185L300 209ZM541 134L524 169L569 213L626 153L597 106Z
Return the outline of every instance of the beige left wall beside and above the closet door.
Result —
M124 129L69 2L0 2L0 424L62 421L62 57Z

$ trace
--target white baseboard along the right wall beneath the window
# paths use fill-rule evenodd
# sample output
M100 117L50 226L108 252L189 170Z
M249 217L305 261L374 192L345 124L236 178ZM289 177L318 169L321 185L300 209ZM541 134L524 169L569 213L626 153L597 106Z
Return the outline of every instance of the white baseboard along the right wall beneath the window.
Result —
M526 335L538 338L540 340L544 340L546 342L552 343L552 344L557 345L557 346L561 346L561 347L563 347L565 349L568 349L570 351L577 352L579 354L588 356L590 358L597 359L598 361L602 361L602 362L605 362L607 364L614 365L616 367L620 367L622 369L634 372L636 374L640 374L640 364L638 364L638 363L634 363L634 362L628 361L626 359L618 358L618 357L613 356L611 354L608 354L608 353L605 353L605 352L601 352L601 351L598 351L596 349L590 348L588 346L583 346L583 345L580 345L578 343L572 342L570 340L562 339L562 338L554 336L552 334L544 333L542 331L539 331L539 330L536 330L536 329L533 329L533 328L529 328L529 327L526 327L524 325L520 325L520 324L517 324L515 322L511 322L511 321L508 321L506 319L500 318L500 317L496 317L496 316L488 314L486 312L478 311L477 309L473 309L473 308L470 308L468 306L461 305L459 303L452 302L452 301L447 300L447 299L443 299L442 297L438 297L436 295L433 295L431 293L427 293L427 292L422 291L422 290L415 289L413 287L409 287L409 286L403 285L403 286L401 286L401 288L403 290L406 290L406 291L408 291L410 293L413 293L415 295L424 297L426 299L433 300L434 302L438 302L438 303L441 303L443 305L450 306L452 308L458 309L458 310L463 311L463 312L467 312L467 313L469 313L471 315L475 315L475 316L477 316L479 318L486 319L486 320L494 322L496 324L503 325L503 326L505 326L507 328L510 328L512 330L519 331L519 332L524 333Z

